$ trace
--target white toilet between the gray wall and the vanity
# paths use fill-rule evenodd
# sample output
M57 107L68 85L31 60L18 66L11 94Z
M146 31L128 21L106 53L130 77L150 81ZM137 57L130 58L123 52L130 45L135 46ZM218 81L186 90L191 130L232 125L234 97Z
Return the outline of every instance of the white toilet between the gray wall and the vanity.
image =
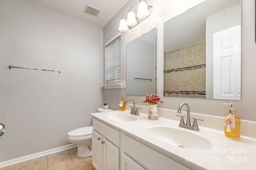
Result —
M98 108L97 112L111 112L112 109ZM82 127L68 132L68 141L77 144L77 157L92 156L92 126Z

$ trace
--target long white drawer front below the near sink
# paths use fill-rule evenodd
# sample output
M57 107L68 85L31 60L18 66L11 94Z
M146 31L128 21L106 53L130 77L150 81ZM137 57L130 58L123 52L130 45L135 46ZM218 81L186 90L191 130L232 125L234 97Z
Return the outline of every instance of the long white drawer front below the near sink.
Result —
M152 150L140 142L122 134L122 148L124 153L130 156L147 170L188 170L178 162Z

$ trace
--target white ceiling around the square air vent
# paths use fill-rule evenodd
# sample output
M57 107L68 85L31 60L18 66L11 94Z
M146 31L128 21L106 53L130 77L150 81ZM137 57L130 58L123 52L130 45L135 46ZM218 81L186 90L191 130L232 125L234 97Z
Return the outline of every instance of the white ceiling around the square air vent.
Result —
M128 0L27 0L56 12L104 27ZM84 13L86 4L99 8L97 17Z

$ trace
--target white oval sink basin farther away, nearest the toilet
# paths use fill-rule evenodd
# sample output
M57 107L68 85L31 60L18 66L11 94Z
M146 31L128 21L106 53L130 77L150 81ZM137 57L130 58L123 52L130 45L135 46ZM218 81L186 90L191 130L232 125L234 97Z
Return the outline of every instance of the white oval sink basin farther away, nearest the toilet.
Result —
M125 111L117 111L117 112L105 113L103 117L105 117L106 119L110 119L112 121L130 122L130 121L136 121L139 117L142 117L142 116L131 115L130 113Z

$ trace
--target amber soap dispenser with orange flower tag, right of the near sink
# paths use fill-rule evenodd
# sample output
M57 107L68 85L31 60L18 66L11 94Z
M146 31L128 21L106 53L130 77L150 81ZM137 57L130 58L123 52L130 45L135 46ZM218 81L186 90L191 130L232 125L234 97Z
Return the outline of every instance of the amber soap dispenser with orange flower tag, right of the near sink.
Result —
M236 115L234 103L223 103L223 105L230 105L228 114L224 115L225 127L224 133L229 138L240 138L240 124L241 117Z

